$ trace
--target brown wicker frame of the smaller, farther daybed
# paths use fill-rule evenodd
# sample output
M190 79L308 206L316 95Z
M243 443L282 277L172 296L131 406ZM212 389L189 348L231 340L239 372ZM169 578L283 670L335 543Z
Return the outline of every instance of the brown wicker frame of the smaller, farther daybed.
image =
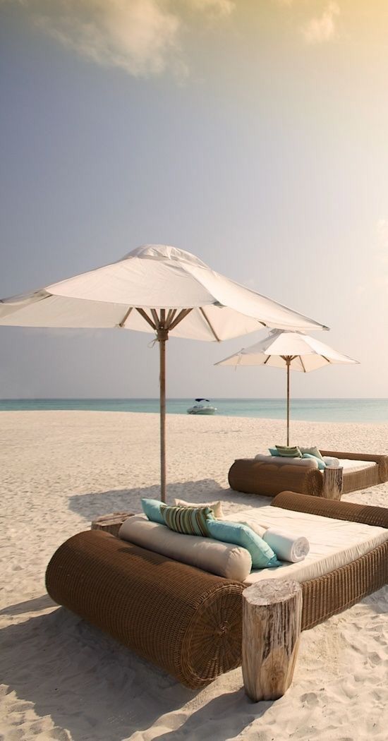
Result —
M384 484L388 481L388 456L367 455L366 453L338 453L338 451L321 451L323 456L330 456L347 461L365 461L375 463L371 468L361 471L347 471L342 473L342 494L351 491L366 489L369 486ZM294 465L294 459L274 459L271 456L255 458L241 458L235 460L230 468L228 479L230 487L235 491L246 494L261 494L261 496L275 496L281 491L291 489L299 494L325 496L324 476L326 471L318 471L309 467ZM278 465L278 461L282 465ZM330 469L327 469L330 471Z

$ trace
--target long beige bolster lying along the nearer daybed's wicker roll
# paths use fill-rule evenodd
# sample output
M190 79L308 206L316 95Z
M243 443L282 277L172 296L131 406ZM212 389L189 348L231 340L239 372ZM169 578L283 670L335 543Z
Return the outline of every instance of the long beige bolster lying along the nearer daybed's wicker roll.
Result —
M238 582L244 582L252 568L252 559L246 548L213 538L181 535L166 525L150 522L144 515L129 517L121 525L118 537L148 551Z

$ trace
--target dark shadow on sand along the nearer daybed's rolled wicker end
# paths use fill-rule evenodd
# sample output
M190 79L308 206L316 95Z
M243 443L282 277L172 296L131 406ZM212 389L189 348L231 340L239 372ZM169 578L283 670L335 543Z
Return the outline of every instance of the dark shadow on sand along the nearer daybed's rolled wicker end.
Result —
M31 602L38 605L38 600L42 606L50 606L42 596L26 602L26 611ZM21 605L14 607L21 613ZM141 738L152 725L158 726L159 718L178 711L200 694L184 688L65 608L3 628L1 677L19 700L33 702L39 717L49 716L57 728L67 729L73 741L121 741L136 731ZM223 677L216 681L224 684ZM253 720L247 721L247 713L258 717L269 705L250 705L242 689L230 693L221 687L220 692L209 702L205 700L206 704L175 731L163 733L169 721L161 720L162 735L158 738L197 738L195 729L210 719L215 726L217 716L223 719L224 727L225 714L230 728L238 734ZM215 727L212 737L220 738Z

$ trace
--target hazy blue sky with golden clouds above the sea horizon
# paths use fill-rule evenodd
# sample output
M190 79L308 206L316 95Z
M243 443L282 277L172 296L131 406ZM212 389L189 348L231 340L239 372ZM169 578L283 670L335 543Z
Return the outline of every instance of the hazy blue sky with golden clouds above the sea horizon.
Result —
M360 361L298 397L388 396L386 0L0 0L0 296L175 245ZM170 338L167 395L278 397ZM0 398L156 397L146 333L0 327Z

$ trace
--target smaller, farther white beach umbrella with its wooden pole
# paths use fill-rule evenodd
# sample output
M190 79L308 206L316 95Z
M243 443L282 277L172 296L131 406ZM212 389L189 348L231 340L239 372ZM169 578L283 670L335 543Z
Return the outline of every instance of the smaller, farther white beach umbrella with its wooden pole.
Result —
M287 368L287 445L290 443L290 369L309 373L332 363L358 363L347 355L338 353L324 342L302 332L272 330L267 337L239 350L215 365L272 365Z

